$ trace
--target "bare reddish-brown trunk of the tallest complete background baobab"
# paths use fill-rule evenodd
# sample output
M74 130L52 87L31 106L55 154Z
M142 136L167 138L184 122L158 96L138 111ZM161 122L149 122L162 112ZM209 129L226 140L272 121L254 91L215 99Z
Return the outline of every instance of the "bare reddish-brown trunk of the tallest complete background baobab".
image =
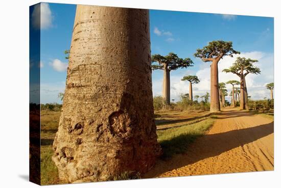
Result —
M218 61L210 66L210 112L220 111Z

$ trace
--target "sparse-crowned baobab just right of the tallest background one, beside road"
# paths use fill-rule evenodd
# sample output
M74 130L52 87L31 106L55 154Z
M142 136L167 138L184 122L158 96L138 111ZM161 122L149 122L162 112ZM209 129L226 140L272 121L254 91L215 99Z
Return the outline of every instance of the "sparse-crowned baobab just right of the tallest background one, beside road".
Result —
M236 61L228 69L223 72L233 73L240 77L240 110L248 110L248 92L245 77L249 74L260 74L260 68L254 67L253 63L257 62L255 59L246 59L245 57L237 57Z

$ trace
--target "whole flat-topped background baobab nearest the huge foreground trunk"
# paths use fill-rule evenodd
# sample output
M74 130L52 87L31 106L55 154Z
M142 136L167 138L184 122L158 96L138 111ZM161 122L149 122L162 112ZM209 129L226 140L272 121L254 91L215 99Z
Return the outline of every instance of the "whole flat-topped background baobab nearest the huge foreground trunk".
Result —
M171 52L166 56L152 55L151 62L152 70L160 69L164 71L162 95L165 104L170 105L170 72L179 68L192 67L193 61L190 58L179 58L177 54Z

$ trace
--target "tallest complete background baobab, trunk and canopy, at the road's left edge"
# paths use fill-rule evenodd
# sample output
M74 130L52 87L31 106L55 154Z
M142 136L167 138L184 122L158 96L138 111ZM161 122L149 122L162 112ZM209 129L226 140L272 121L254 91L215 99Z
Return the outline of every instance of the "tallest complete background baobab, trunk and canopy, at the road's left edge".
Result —
M218 63L224 56L233 57L233 54L240 54L240 52L232 48L232 41L223 40L212 41L208 46L197 49L194 54L204 62L212 62L210 65L210 112L220 111Z

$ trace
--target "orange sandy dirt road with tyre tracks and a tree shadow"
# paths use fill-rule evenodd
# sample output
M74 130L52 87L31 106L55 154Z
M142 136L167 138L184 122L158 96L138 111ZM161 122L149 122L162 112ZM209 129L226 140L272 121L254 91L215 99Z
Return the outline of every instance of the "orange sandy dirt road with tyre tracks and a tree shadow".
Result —
M158 160L144 178L272 171L273 120L225 109L185 154Z

